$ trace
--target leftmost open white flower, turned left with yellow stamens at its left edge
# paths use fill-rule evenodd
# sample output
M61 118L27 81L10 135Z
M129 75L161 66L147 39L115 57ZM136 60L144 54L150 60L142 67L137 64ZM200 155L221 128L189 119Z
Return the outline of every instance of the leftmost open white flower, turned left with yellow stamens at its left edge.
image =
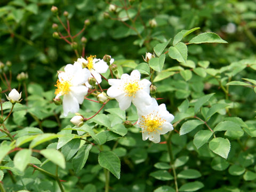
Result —
M63 95L63 115L67 116L68 112L76 113L79 110L79 104L82 104L88 91L88 88L82 84L89 78L90 71L83 69L79 63L68 64L64 70L65 72L59 73L55 85L57 86L55 99Z

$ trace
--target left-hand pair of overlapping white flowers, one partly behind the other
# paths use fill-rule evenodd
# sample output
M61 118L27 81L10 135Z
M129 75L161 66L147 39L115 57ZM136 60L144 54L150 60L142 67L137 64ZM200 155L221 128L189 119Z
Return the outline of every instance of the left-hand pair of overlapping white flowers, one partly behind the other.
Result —
M84 97L91 87L88 82L89 77L94 77L99 84L101 83L100 73L106 73L108 70L105 61L96 59L95 56L86 59L79 58L74 65L68 64L64 71L59 71L59 79L55 85L57 86L55 99L59 99L63 95L64 116L67 116L69 112L77 113L79 110L79 104L83 103ZM110 60L110 63L112 62L114 59Z

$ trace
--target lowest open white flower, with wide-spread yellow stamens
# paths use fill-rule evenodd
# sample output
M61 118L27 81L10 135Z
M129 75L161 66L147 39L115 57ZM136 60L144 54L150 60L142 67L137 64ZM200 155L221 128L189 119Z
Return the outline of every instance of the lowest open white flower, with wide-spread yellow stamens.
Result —
M160 135L173 130L172 124L174 116L170 114L165 104L158 106L156 99L152 98L150 106L138 109L139 120L137 125L141 128L142 139L149 139L154 143L160 142Z

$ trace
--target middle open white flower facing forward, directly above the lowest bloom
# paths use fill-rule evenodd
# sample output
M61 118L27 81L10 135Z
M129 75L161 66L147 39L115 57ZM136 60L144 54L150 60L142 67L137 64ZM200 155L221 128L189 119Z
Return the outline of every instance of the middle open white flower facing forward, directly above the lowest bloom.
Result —
M108 79L109 87L107 94L119 102L122 110L130 107L131 102L137 108L143 108L152 102L149 95L150 81L142 79L140 81L140 72L133 70L131 76L123 74L121 79Z

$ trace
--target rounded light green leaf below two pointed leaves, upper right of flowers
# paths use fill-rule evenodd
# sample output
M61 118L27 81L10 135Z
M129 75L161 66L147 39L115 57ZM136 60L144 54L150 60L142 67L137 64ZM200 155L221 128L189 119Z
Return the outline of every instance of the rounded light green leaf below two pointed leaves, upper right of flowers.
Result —
M179 62L186 63L188 57L188 47L185 43L178 43L175 46L171 46L168 52L170 58L176 59Z

